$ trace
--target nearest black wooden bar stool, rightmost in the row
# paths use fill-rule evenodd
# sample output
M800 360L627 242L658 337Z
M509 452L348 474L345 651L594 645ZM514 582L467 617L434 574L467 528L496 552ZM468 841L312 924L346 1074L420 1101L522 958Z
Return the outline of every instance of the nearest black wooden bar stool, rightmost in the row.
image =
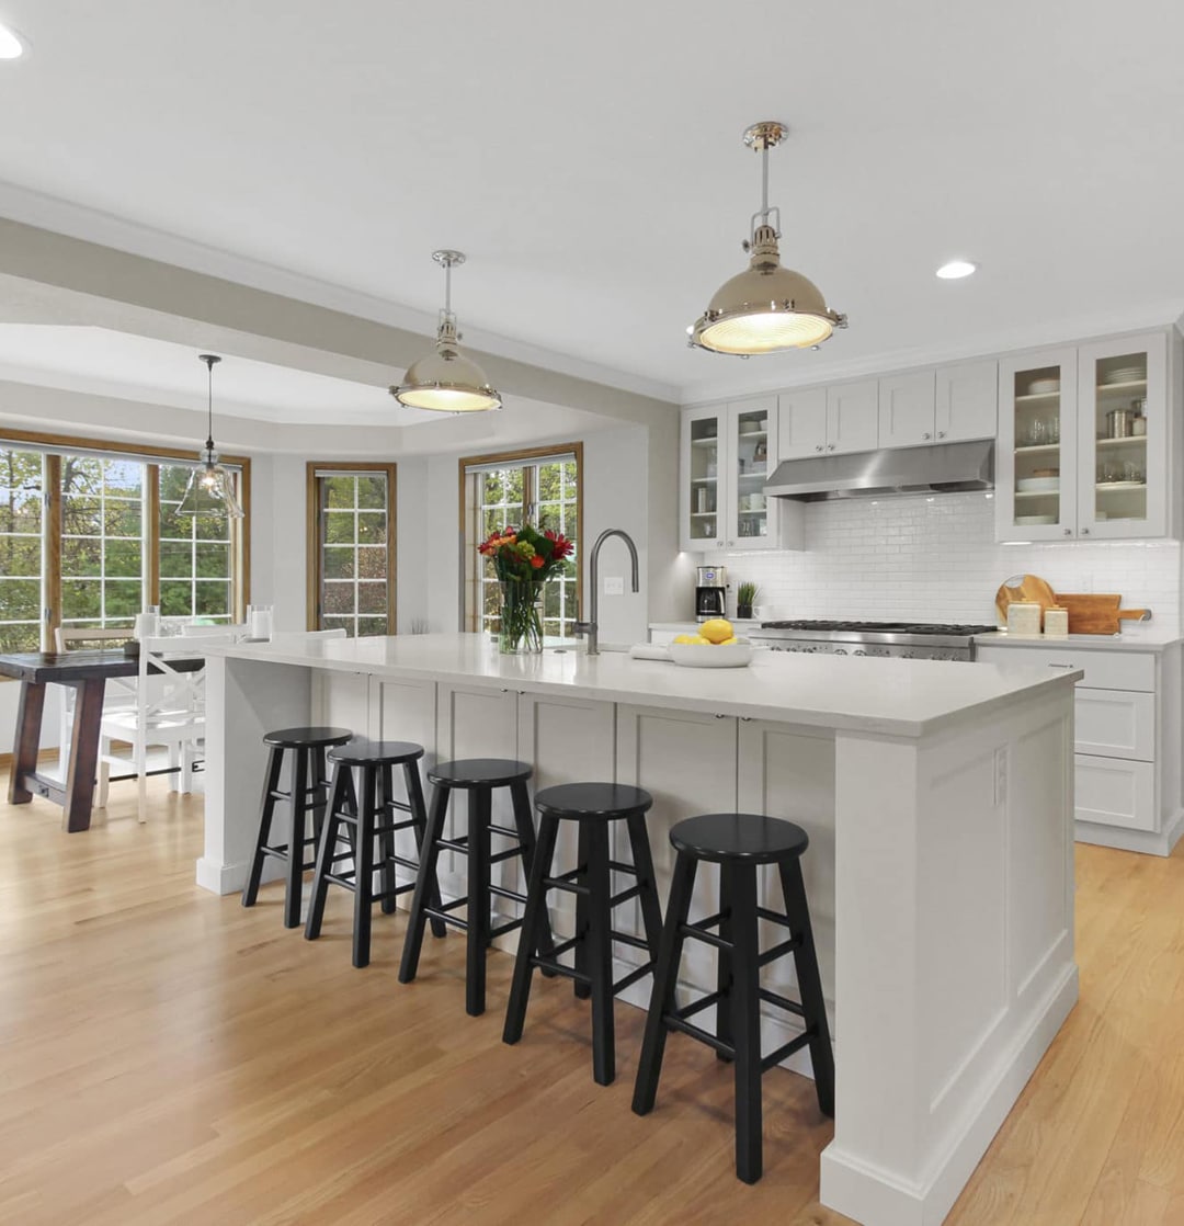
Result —
M745 1183L755 1183L761 1177L762 1073L809 1045L819 1108L826 1116L835 1113L835 1059L802 880L800 857L809 837L800 826L776 818L708 813L679 821L670 830L670 842L678 851L678 859L637 1065L634 1111L643 1116L653 1110L668 1030L679 1030L713 1047L723 1059L735 1062L735 1173ZM719 866L719 912L688 923L695 870L704 859ZM786 915L757 905L756 870L761 864L777 866ZM761 953L757 920L787 928L789 939ZM718 933L711 931L717 927ZM674 987L686 937L719 950L718 983L715 992L677 1009ZM786 954L793 954L800 1004L760 986L760 969ZM760 1051L762 1000L797 1014L805 1022L802 1035L764 1057ZM712 1004L718 1005L715 1035L689 1020Z

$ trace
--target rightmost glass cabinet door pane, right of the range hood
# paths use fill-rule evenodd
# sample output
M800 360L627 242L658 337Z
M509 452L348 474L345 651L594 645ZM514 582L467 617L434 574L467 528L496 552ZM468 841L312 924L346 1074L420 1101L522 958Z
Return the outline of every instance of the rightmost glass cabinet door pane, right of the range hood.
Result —
M1093 363L1095 520L1147 519L1147 354Z

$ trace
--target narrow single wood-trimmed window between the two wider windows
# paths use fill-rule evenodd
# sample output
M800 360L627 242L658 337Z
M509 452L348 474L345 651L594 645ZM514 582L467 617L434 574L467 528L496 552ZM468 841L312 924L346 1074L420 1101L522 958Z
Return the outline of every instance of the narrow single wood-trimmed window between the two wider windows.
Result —
M395 465L308 466L308 625L395 634Z

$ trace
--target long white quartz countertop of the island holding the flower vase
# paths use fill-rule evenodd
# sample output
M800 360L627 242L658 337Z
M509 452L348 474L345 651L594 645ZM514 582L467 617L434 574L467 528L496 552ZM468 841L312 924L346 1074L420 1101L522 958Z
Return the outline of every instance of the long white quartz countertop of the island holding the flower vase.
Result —
M711 651L711 647L702 647ZM488 635L373 639L278 635L271 642L210 644L207 656L297 664L373 677L423 679L672 710L775 720L835 731L920 737L1083 674L933 660L756 651L746 668L684 668L582 649L503 656Z

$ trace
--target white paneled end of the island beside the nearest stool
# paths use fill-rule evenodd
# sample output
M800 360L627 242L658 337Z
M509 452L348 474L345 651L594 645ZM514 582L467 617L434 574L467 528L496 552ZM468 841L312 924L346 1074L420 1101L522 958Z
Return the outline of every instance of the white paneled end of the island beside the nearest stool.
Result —
M821 1199L939 1222L1076 999L1072 694L836 738L835 1140Z

